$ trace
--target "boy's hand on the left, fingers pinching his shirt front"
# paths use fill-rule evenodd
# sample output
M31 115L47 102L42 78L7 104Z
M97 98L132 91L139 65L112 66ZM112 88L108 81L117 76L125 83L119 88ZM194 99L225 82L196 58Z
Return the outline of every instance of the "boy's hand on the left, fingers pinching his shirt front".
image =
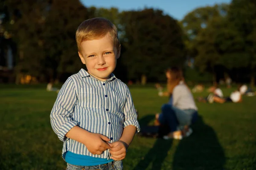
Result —
M111 149L111 146L108 144L109 141L110 139L102 134L90 133L88 140L84 144L90 153L100 155L103 151Z

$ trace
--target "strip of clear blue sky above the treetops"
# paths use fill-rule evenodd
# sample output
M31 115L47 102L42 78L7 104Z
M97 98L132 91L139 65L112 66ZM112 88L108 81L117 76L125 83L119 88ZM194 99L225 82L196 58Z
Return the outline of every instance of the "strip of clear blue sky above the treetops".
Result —
M231 0L80 0L84 6L97 8L116 7L120 11L141 10L147 8L161 9L165 14L182 20L183 17L195 8L213 6L216 3L230 3Z

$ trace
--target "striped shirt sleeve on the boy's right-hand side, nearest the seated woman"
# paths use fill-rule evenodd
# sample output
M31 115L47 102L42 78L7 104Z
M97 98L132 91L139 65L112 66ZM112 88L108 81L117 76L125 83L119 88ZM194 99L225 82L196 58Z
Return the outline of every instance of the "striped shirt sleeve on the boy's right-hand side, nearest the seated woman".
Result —
M140 125L137 120L137 113L134 108L134 103L132 101L131 93L130 93L128 87L127 87L126 94L127 94L127 99L126 99L125 107L124 107L125 121L123 123L123 126L126 127L129 125L133 125L133 126L137 127L137 132L140 132Z

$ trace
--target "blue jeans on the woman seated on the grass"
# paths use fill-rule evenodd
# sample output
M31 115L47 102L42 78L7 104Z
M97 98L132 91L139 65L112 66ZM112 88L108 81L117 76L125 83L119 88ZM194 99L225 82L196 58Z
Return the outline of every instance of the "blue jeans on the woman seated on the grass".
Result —
M159 122L162 125L168 125L170 132L177 130L178 126L191 125L195 123L198 117L198 111L194 109L181 110L172 105L165 104L161 108Z

